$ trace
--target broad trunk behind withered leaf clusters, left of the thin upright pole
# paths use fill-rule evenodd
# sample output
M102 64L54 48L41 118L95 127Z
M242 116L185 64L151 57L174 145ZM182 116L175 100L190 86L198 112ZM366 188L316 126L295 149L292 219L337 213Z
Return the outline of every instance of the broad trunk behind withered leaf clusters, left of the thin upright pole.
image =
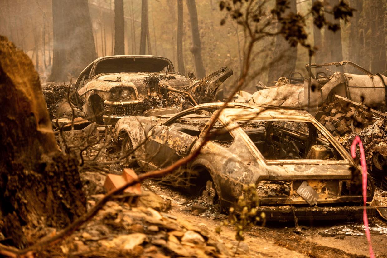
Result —
M281 4L281 0L276 0L276 5ZM297 12L296 0L290 1L290 10L288 12ZM286 13L284 14L287 15ZM277 24L277 30L281 30L281 24ZM268 84L272 85L280 77L289 77L294 72L297 61L297 46L290 46L282 34L276 36L276 43L273 52L273 64L269 67Z

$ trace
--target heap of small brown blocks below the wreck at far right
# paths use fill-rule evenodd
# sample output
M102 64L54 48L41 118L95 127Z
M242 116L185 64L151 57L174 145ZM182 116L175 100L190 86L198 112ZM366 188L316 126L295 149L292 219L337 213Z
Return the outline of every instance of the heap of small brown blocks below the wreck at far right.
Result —
M356 105L345 98L338 98L332 103L323 103L316 113L316 119L334 136L342 136L351 132L360 133L377 118L374 112L364 105Z

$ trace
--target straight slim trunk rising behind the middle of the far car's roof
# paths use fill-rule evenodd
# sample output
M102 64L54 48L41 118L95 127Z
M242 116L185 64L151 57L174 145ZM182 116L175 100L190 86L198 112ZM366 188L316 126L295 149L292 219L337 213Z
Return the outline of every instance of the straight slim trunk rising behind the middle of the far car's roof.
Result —
M114 54L125 53L125 30L123 20L123 0L114 0Z

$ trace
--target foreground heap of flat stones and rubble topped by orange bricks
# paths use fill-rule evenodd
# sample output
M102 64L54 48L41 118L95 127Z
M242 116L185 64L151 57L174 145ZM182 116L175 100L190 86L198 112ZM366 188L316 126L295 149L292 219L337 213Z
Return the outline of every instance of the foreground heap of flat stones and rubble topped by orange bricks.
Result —
M124 169L125 175L133 175ZM120 175L108 175L106 191L120 184ZM94 181L94 180L92 180ZM101 180L96 179L98 189ZM113 187L113 188L112 188ZM89 192L89 208L103 198L103 191ZM168 213L170 203L136 185L106 203L85 227L44 255L57 257L224 257L225 244L214 232Z

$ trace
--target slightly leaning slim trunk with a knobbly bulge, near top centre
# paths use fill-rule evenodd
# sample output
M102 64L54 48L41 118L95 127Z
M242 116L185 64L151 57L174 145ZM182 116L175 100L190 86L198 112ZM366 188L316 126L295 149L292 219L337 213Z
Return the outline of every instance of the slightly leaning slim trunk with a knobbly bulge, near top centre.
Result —
M194 55L196 77L205 77L205 69L202 60L202 46L200 43L199 26L197 21L197 10L195 0L187 0L188 13L191 21L192 46L191 52Z

